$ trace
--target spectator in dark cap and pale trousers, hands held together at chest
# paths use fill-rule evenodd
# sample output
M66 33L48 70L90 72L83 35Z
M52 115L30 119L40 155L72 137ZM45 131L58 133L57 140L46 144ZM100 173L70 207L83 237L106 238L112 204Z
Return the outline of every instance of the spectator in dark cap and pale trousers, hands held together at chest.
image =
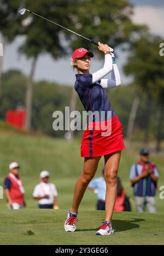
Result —
M140 161L132 165L130 172L137 212L144 212L147 206L149 213L156 213L155 191L159 173L156 165L149 162L148 149L141 149L139 154Z

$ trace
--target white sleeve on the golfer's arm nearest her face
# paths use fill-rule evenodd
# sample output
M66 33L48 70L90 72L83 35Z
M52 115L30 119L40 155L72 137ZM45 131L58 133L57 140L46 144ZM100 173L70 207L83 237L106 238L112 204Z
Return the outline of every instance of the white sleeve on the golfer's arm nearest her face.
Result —
M110 54L106 54L103 68L92 74L92 84L101 80L102 77L112 71L112 68L112 56Z

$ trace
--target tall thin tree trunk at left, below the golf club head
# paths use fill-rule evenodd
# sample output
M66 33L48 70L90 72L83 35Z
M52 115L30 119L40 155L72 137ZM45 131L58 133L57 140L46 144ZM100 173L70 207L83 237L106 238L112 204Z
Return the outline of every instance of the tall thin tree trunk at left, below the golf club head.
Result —
M25 130L30 131L31 129L31 115L32 115L32 82L34 71L36 69L37 57L34 57L32 60L31 72L27 82L27 90L26 90L26 120L25 120Z

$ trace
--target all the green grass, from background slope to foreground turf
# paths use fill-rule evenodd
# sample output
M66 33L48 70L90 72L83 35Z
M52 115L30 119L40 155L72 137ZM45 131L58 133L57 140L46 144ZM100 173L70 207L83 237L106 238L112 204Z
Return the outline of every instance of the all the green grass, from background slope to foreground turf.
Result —
M158 214L138 214L133 201L133 191L130 187L130 167L138 160L138 150L141 144L134 143L122 151L119 176L127 195L132 198L132 213L114 213L114 228L116 232L109 237L95 236L97 227L101 225L104 212L95 210L96 195L86 191L79 208L78 232L76 235L65 233L61 226L71 207L74 184L83 168L83 158L80 157L80 141L67 142L64 139L46 136L32 136L13 130L0 131L0 185L3 186L5 175L8 174L10 162L17 161L21 165L20 175L24 181L27 208L13 212L6 210L5 199L0 200L2 244L157 244L162 243L164 200L161 200L157 190L156 204ZM163 154L151 154L159 169L159 187L164 185ZM103 157L99 163L96 177L101 175ZM39 182L39 172L48 170L51 182L58 191L60 210L35 209L37 202L32 198L34 186ZM140 219L140 220L139 220ZM88 223L88 220L90 222ZM34 235L32 235L32 233ZM14 233L14 236L13 236ZM57 235L58 233L58 235ZM44 234L44 235L43 235ZM87 236L89 235L89 236ZM93 236L92 236L93 235ZM64 238L64 239L63 239ZM107 240L108 239L108 240Z

